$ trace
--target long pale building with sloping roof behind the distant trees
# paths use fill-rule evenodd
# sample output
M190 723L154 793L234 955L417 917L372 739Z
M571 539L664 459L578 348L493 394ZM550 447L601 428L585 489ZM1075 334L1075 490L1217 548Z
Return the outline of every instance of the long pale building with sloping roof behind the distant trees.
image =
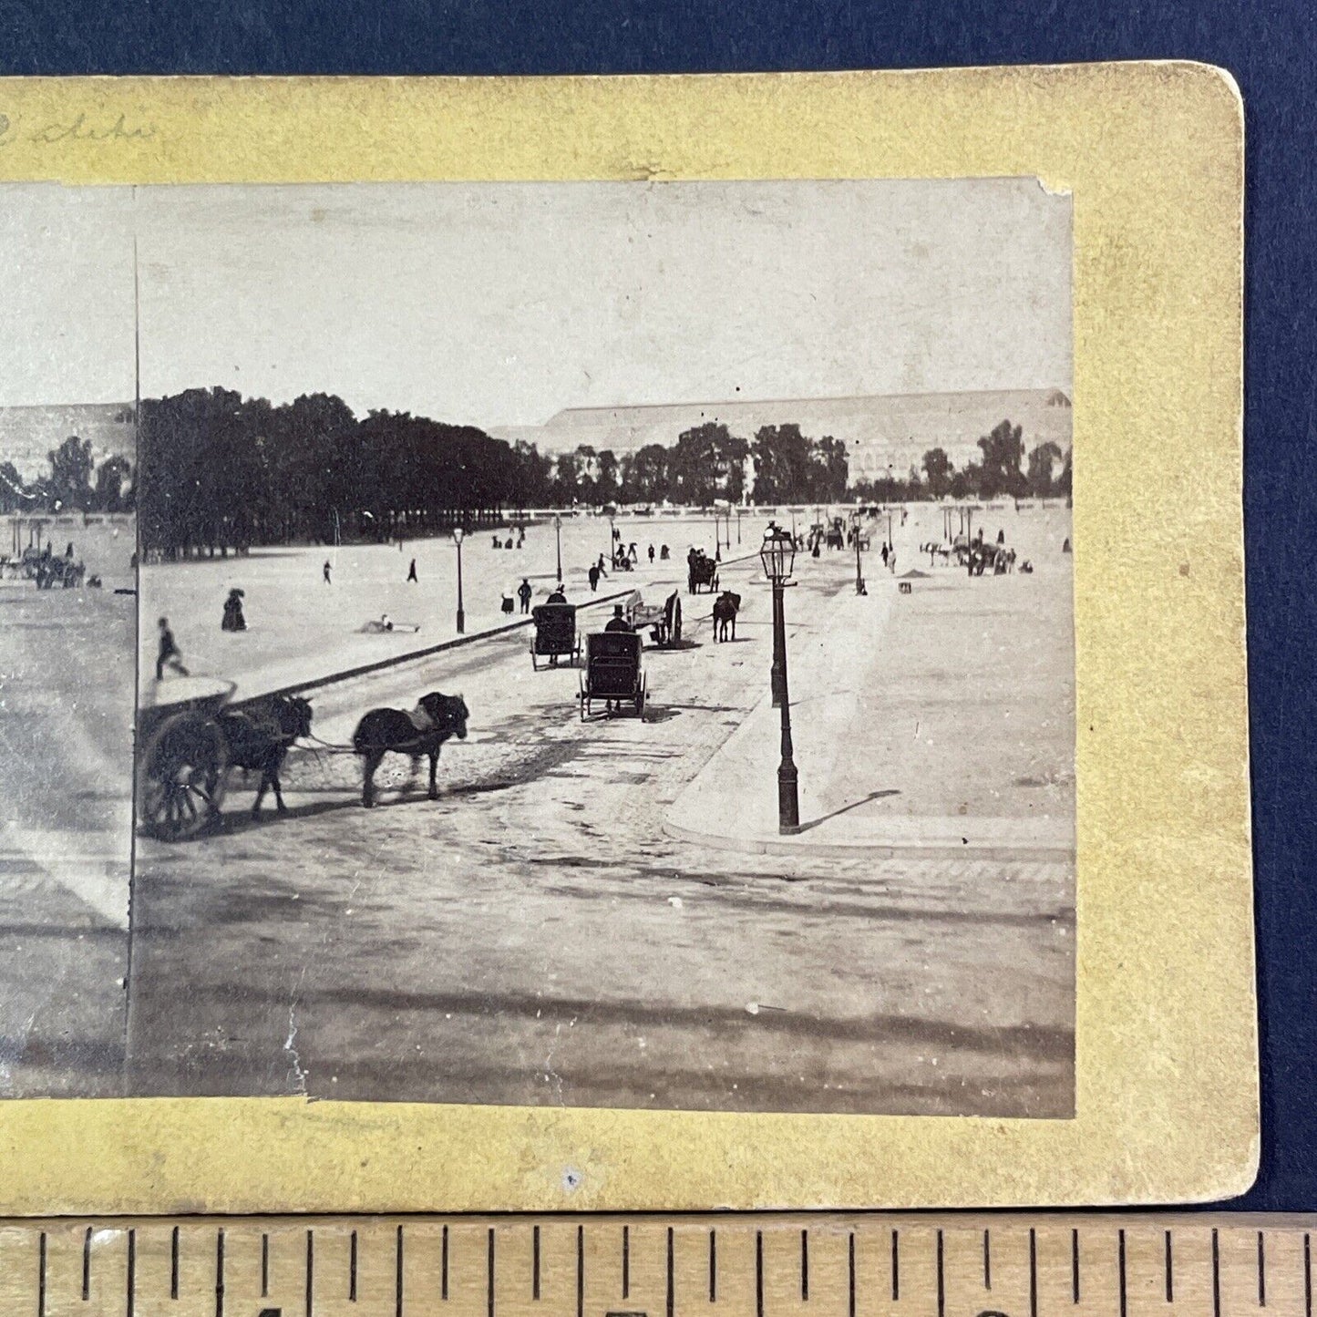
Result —
M670 446L684 429L722 423L745 440L761 425L794 421L810 439L831 435L846 444L849 479L905 478L930 448L942 448L957 469L981 456L979 440L1009 420L1023 427L1026 448L1051 440L1071 445L1071 400L1059 389L1011 389L963 394L880 394L865 398L784 398L768 402L665 403L643 407L569 407L543 425L490 433L524 439L541 452L581 444L611 448L619 457L645 444Z

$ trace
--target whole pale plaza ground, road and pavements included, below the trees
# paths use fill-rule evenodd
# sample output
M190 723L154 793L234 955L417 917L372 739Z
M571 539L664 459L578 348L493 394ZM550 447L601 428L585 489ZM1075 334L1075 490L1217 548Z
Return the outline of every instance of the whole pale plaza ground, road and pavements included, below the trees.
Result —
M738 544L734 516L730 547L726 520L619 518L640 565L597 594L583 569L608 522L564 522L582 631L614 597L681 590L687 644L645 649L644 719L582 722L579 669L535 670L532 628L507 630L504 593L525 578L539 603L556 583L552 524L511 551L468 536L465 643L307 689L316 740L284 764L286 815L267 801L253 819L255 781L230 774L216 830L140 840L125 1089L1069 1114L1069 511L979 510L985 539L1033 566L981 577L921 553L943 515L867 518L863 595L853 551L795 557L792 836L766 518L745 512ZM686 593L686 551L712 554L715 533L719 590L741 597L727 643L715 597ZM651 566L649 543L669 560ZM153 565L142 616L169 616L191 670L241 699L456 639L456 569L448 539ZM250 627L236 635L220 630L233 587ZM381 614L419 630L363 630ZM148 631L142 698L162 699L175 678L153 689ZM439 799L392 759L363 810L353 728L432 690L470 710Z

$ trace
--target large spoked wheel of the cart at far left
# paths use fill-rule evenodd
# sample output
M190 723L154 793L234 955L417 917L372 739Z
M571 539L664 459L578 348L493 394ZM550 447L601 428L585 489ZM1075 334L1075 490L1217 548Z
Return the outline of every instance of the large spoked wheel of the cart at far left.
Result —
M142 831L162 842L183 842L220 813L228 747L219 726L196 714L176 714L146 743L137 770Z

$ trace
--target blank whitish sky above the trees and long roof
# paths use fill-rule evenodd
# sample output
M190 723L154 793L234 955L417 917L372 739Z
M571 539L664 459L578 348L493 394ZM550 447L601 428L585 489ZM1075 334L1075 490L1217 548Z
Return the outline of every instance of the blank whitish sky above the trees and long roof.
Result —
M486 427L1071 385L1029 179L0 188L0 406L224 385Z

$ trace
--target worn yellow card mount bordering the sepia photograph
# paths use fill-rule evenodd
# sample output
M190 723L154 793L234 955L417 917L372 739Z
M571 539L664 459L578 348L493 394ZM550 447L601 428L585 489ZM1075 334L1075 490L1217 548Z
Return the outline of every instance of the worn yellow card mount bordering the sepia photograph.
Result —
M38 79L0 82L0 113L3 179L1072 190L1080 802L1072 1121L11 1101L0 1210L1105 1204L1250 1183L1243 129L1227 74Z

